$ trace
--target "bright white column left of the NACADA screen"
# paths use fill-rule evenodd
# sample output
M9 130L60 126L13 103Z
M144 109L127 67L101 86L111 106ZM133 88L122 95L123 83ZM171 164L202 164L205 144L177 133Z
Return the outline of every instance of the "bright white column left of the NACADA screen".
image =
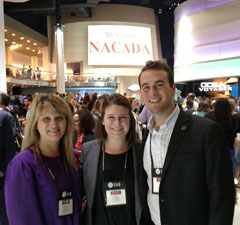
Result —
M55 49L56 49L57 92L65 93L64 47L62 25L56 26L55 40L56 40Z

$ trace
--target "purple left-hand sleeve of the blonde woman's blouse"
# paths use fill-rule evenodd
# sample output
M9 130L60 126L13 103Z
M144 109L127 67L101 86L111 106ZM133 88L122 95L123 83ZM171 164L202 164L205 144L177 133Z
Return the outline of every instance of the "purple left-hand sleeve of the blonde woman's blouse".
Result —
M11 225L46 225L34 180L33 163L18 156L9 164L5 178L9 223Z

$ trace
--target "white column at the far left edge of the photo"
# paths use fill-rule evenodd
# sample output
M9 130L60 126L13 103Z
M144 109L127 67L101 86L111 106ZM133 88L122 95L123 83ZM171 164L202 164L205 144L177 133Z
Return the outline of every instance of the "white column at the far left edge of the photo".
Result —
M0 0L0 91L7 93L3 0Z

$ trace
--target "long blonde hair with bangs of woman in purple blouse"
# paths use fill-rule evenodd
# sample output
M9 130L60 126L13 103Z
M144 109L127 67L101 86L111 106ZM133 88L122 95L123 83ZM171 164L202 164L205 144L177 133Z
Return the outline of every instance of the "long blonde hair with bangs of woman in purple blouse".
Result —
M73 120L71 111L67 103L55 94L38 94L32 104L27 117L26 127L24 129L24 139L22 150L31 149L37 159L40 159L39 151L40 135L37 131L37 122L40 114L45 110L50 109L54 112L66 117L67 125L64 136L60 140L59 150L63 156L65 166L69 166L77 170L76 161L73 153Z

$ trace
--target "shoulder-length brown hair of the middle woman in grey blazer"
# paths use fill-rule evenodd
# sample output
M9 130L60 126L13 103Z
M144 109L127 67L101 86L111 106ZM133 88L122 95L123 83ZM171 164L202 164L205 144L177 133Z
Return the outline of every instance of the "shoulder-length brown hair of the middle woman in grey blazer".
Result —
M132 107L130 102L126 97L120 94L112 94L104 98L103 105L102 105L102 115L99 117L97 127L96 127L96 133L95 133L96 138L100 139L103 142L107 139L107 132L102 123L103 123L103 118L105 115L106 108L110 105L123 106L124 108L128 109L128 114L130 117L130 126L129 126L129 131L126 135L126 140L128 143L128 147L132 147L137 140L135 119L132 114Z

